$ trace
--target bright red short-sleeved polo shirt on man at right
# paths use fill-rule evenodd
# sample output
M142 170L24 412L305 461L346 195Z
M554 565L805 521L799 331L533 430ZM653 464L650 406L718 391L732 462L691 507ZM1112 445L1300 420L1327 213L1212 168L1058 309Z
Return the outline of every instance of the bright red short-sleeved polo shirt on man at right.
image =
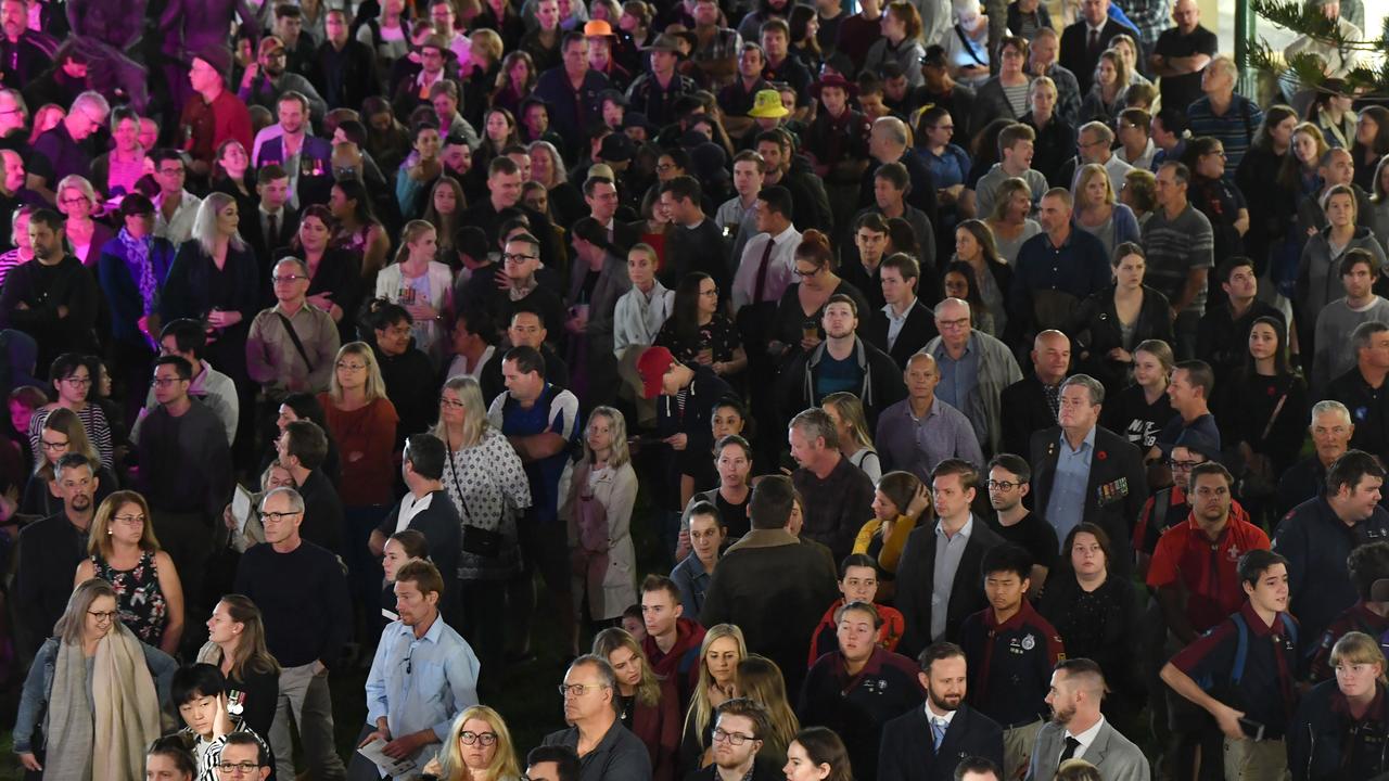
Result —
M1147 568L1147 585L1163 588L1181 584L1186 589L1186 620L1197 632L1221 623L1245 603L1245 589L1239 585L1239 557L1250 550L1268 550L1264 529L1231 511L1225 529L1214 542L1188 516L1157 541L1153 563Z

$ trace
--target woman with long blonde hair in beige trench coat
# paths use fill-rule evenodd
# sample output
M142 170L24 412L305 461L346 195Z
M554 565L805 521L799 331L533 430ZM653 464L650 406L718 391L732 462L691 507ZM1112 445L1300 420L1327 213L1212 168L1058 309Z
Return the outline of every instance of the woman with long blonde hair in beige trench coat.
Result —
M621 618L626 606L638 602L631 534L635 503L626 420L613 407L597 407L589 414L583 460L574 470L567 503L575 606L582 605L586 591L593 621Z

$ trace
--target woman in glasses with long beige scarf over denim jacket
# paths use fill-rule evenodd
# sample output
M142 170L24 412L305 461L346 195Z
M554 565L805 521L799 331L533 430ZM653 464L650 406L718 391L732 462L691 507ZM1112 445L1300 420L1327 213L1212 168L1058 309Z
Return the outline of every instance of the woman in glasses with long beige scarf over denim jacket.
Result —
M174 657L117 620L111 584L78 585L24 682L14 724L19 762L58 781L143 777L144 749L160 737L160 702L176 668ZM63 749L43 756L44 745Z

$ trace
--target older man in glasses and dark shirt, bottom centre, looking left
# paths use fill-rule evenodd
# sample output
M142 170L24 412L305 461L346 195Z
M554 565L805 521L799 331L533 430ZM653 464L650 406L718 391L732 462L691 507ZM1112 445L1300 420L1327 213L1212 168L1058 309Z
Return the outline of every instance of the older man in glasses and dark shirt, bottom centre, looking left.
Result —
M590 653L575 659L558 689L569 728L550 732L543 745L574 749L579 781L651 777L646 745L618 720L617 675L607 659Z

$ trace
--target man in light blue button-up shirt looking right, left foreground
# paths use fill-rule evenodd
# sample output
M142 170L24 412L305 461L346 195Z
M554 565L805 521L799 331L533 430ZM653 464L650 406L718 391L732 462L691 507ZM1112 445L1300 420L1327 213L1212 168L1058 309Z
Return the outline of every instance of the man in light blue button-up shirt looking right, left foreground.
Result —
M367 727L358 746L385 743L393 759L410 759L414 777L439 753L449 727L478 705L478 657L467 641L439 617L443 578L429 561L410 561L396 574L396 611L381 632L367 675ZM353 755L347 778L375 781L371 760Z

